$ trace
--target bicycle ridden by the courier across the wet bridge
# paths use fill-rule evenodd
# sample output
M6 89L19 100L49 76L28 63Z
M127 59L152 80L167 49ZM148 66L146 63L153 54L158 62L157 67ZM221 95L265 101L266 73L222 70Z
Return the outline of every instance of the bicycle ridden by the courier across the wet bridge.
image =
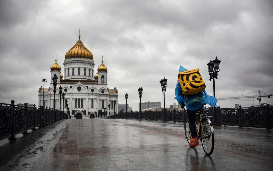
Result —
M214 129L213 123L209 119L211 116L207 116L204 110L198 110L196 116L199 118L199 131L196 126L197 138L201 139L202 147L206 155L211 155L214 149ZM188 143L190 143L191 132L189 130L189 119L185 120L185 135Z

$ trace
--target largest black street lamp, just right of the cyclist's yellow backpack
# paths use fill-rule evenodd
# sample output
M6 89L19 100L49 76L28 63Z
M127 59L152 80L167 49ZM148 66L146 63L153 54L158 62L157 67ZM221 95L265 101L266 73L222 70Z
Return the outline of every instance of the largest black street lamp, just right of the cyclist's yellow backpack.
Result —
M210 61L207 63L208 65L208 74L209 74L209 80L213 80L213 97L215 97L215 81L214 78L218 78L218 72L219 72L219 65L220 65L220 60L217 59L217 56L213 61Z

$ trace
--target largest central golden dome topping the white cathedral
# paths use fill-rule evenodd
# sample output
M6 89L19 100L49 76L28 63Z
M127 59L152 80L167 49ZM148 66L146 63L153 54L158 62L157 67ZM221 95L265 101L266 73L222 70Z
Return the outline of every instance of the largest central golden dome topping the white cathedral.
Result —
M93 59L93 54L84 46L84 44L80 40L65 54L65 59L69 58L87 58Z

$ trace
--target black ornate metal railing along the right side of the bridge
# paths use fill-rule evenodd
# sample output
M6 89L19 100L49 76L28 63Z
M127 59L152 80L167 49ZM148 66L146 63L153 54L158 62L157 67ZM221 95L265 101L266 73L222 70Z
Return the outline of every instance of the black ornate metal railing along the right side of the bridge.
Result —
M239 127L273 128L273 107L258 108L206 108L205 112L215 125L233 125ZM109 118L149 119L160 121L184 122L187 110L159 110L142 112L123 112Z

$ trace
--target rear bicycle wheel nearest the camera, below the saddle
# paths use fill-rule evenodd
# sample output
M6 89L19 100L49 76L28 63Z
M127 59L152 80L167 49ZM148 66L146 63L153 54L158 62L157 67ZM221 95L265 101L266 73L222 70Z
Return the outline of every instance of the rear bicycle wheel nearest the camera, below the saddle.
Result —
M205 118L202 121L202 147L206 155L211 155L214 149L214 133L211 131L211 126Z

